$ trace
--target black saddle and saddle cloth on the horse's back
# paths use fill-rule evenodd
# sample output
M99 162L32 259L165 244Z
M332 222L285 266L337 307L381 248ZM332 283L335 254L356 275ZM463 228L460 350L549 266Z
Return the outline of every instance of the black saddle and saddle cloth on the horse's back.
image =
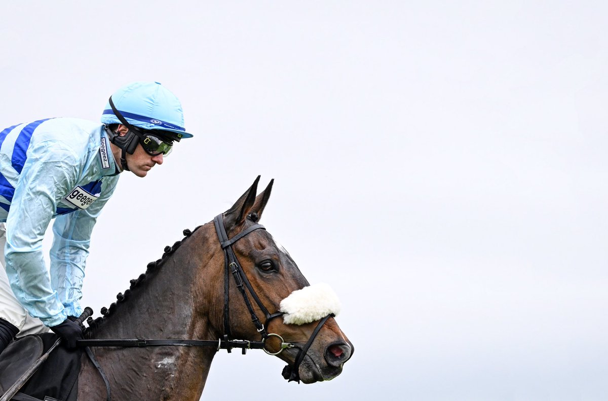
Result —
M57 338L54 333L44 333L27 335L10 343L0 354L0 395L16 383ZM13 400L75 401L82 352L80 348L69 350L56 347Z

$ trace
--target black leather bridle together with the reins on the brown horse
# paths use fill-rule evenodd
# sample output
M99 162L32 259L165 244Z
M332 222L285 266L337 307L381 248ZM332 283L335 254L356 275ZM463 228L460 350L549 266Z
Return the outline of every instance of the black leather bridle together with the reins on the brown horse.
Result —
M241 238L245 237L247 234L250 234L251 232L256 231L258 229L265 230L266 228L264 228L263 225L256 223L252 226L249 226L249 228L244 229L243 231L241 231L240 233L238 233L237 235L235 235L234 237L229 239L228 235L226 233L226 227L224 226L223 216L221 214L219 214L215 218L213 218L213 225L215 225L215 231L216 231L216 234L218 235L219 245L221 246L221 248L224 251L224 335L223 335L223 338L219 338L219 340L148 340L148 339L143 339L143 338L110 338L110 339L103 339L103 340L78 340L77 345L85 347L86 353L88 354L89 358L91 358L92 363L95 365L97 370L102 375L102 378L106 384L106 391L107 391L106 399L108 401L111 399L108 379L106 378L105 374L103 373L102 367L98 364L97 360L95 360L94 355L92 354L91 350L88 347L195 346L195 347L216 347L216 349L218 351L220 349L226 349L227 352L231 352L231 350L233 348L240 348L242 350L243 354L245 354L247 352L247 349L263 349L264 352L266 352L266 354L269 354L269 355L278 355L281 352L283 352L283 350L285 350L285 349L295 347L295 348L299 348L299 351L295 357L294 364L293 364L293 366L289 366L289 365L285 366L285 368L283 368L282 375L289 382L295 381L295 382L300 383L300 374L299 374L300 364L306 357L306 353L308 352L308 349L312 346L317 334L319 334L319 332L322 329L325 322L330 317L333 317L334 315L330 314L330 315L327 315L324 318L320 319L319 323L317 324L317 327L313 330L313 333L311 334L310 338L308 339L308 341L306 342L306 344L303 347L297 346L292 343L286 343L285 340L283 340L283 337L278 334L268 333L267 328L268 328L269 322L274 318L278 318L280 316L285 315L285 313L284 312L275 312L275 313L268 312L268 309L266 309L266 307L264 307L264 304L261 302L260 298L255 293L254 288L250 284L249 279L247 279L247 276L246 276L245 272L243 271L243 267L241 267L241 264L238 262L237 256L232 249L232 245L235 242L237 242L238 240L240 240ZM247 306L247 310L249 310L249 313L251 315L252 323L254 324L258 333L260 333L260 336L261 336L260 341L235 340L232 338L232 333L230 332L230 308L229 308L230 274L232 274L232 277L234 278L237 288L240 291L241 295L243 296L243 300L245 302L245 305ZM247 295L247 291L249 292L250 296L254 299L255 303L258 305L258 308L262 311L262 313L264 313L264 318L265 318L264 323L261 323L257 314L255 313L254 307L252 306L251 301L249 300L249 296ZM281 342L280 349L277 352L271 352L271 350L268 350L266 348L266 340L268 340L269 338L272 338L272 337L278 338L278 340L280 340L280 342Z

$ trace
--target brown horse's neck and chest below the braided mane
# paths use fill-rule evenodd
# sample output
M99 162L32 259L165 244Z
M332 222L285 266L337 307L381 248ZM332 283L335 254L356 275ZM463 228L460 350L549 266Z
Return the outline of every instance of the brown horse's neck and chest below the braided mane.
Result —
M105 318L95 338L196 339L218 338L206 304L210 294L200 293L209 274L210 255L199 254L187 241L157 271L147 274L124 302ZM207 260L206 260L207 259ZM223 260L222 260L223 262ZM216 271L217 269L215 269ZM215 273L217 274L217 273ZM203 277L201 277L203 276ZM207 276L207 277L204 277ZM199 288L199 290L195 290ZM211 291L210 289L207 291ZM202 305L202 306L201 306ZM215 349L162 346L146 349L96 349L117 399L198 400ZM119 395L120 394L120 395Z

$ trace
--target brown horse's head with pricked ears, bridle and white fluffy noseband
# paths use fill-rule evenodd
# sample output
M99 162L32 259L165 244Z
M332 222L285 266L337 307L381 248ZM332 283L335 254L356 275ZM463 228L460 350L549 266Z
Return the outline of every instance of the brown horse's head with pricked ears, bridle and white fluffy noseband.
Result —
M210 241L216 245L209 263L216 268L207 268L204 274L213 277L201 276L199 285L216 285L201 291L207 298L199 303L199 315L213 316L213 335L264 341L268 354L288 363L283 376L289 381L330 380L353 354L334 319L339 301L328 285L310 286L285 248L258 223L273 183L256 195L259 179L215 218L215 229L205 230L217 235ZM209 313L209 305L215 312Z

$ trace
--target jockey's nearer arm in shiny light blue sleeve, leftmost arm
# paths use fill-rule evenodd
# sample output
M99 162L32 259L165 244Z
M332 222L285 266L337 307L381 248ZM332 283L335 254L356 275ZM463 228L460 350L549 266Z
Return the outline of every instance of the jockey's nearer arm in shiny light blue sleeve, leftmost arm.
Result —
M6 271L21 305L52 327L62 323L67 313L51 286L42 240L57 199L77 181L80 162L75 152L53 141L28 152L6 222Z

